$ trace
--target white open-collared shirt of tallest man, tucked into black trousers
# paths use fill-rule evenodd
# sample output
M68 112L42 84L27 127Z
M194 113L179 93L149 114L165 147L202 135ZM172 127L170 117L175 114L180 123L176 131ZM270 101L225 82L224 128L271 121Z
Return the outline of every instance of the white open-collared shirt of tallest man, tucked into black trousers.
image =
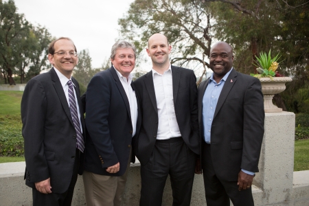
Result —
M163 74L152 69L152 78L159 117L157 139L181 137L174 108L171 67Z

